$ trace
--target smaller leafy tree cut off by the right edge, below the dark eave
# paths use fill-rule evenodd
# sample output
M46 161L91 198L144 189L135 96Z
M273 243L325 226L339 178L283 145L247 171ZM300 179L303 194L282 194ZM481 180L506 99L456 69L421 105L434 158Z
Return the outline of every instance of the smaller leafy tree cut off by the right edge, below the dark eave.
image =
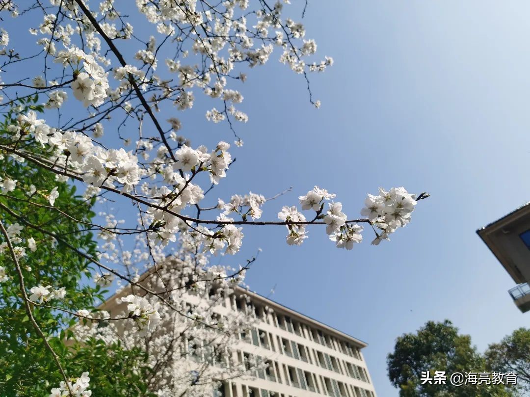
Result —
M517 373L517 389L530 393L530 329L519 328L485 352L488 370Z

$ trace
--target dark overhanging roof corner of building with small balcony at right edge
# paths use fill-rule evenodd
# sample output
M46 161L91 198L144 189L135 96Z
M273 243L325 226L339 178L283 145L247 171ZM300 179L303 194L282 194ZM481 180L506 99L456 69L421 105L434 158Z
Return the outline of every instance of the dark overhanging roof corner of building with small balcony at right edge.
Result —
M508 292L520 311L530 310L530 202L476 233L517 285Z

